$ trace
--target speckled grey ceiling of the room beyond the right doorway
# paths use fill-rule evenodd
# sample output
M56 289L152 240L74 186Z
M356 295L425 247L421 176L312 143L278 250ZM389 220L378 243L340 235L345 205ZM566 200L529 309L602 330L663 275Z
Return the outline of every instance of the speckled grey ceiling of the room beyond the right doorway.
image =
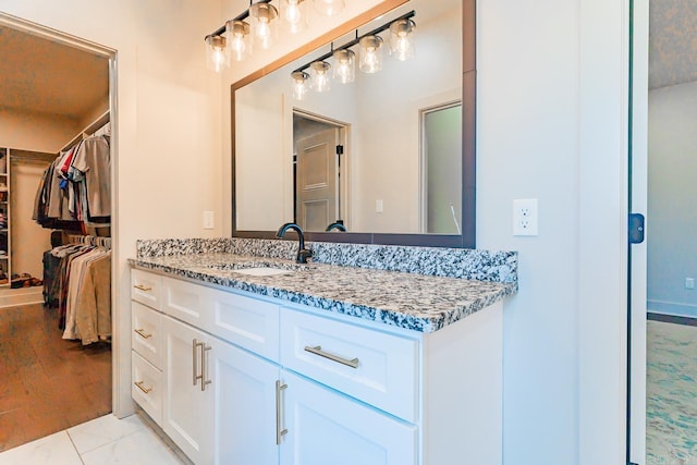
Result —
M649 2L649 88L697 81L697 1Z

